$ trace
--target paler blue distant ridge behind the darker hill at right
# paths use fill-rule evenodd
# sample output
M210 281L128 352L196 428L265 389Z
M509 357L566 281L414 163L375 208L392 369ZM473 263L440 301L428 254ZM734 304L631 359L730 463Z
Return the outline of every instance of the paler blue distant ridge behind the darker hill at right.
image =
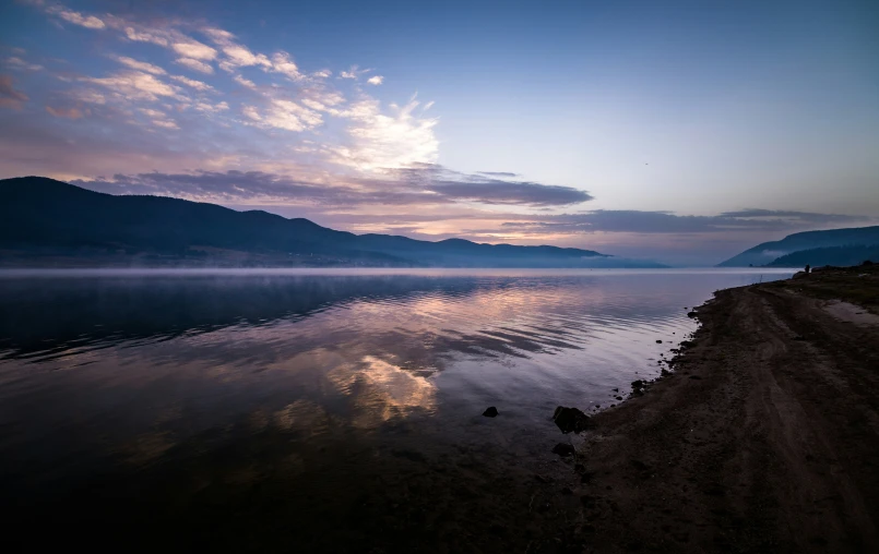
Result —
M879 244L879 226L797 232L788 234L779 241L758 244L717 264L717 267L761 266L771 264L781 256L803 250L872 244Z

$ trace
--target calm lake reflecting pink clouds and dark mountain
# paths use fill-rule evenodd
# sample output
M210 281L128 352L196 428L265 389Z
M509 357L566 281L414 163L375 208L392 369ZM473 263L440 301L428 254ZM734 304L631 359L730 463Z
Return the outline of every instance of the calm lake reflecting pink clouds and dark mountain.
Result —
M3 501L122 550L527 539L575 510L535 489L556 406L619 402L689 309L791 274L7 270Z

